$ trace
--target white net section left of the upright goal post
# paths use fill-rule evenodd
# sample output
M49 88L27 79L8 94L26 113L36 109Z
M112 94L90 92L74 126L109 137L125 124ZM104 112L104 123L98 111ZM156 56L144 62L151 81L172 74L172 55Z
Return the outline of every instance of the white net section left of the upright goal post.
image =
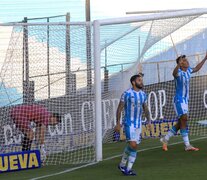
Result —
M79 164L94 160L94 75L92 52L86 53L87 28L90 27L13 27L1 70L1 152L22 150L24 129L36 132L43 123L32 118L47 118L38 112L41 106L50 114L62 116L59 125L47 127L46 163ZM27 110L34 104L38 106ZM19 106L23 110L15 111L11 118L12 109ZM28 127L23 127L25 124ZM34 137L32 148L38 144Z

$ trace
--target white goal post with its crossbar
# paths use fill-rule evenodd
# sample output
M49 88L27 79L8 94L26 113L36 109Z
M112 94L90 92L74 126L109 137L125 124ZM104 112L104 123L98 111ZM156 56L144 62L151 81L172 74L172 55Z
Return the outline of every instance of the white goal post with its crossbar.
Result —
M207 13L207 8L191 9L175 12L165 12L160 14L151 14L144 16L131 16L123 18L112 18L95 20L93 22L93 40L94 40L94 65L95 65L95 117L96 117L96 160L103 159L102 154L102 116L101 116L101 48L100 48L100 27L114 24L136 23L161 19L179 18L185 16L200 16Z

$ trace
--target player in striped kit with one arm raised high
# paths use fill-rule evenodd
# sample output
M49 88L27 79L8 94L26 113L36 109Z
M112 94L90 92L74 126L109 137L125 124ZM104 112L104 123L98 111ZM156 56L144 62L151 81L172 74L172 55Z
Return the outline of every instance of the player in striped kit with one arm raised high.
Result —
M173 71L175 80L175 96L174 96L174 109L178 117L178 123L175 124L167 135L162 137L160 141L163 144L162 149L168 150L167 144L169 139L177 134L180 129L180 134L185 144L185 151L198 151L198 148L193 147L189 142L187 119L188 119L188 101L189 101L189 85L192 73L195 73L201 69L205 61L207 60L207 53L204 59L195 67L189 67L189 62L185 55L179 56L176 59L177 66Z

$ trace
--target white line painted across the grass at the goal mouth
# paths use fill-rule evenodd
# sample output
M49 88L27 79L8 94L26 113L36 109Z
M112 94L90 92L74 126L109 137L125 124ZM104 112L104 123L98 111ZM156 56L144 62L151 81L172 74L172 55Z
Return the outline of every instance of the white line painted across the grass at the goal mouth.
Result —
M201 140L201 139L206 139L206 138L207 137L195 138L195 139L191 140L191 142L198 141L198 140ZM171 143L168 146L174 146L174 145L181 144L181 143L183 143L183 141ZM149 150L158 149L158 148L161 148L161 147L162 146L155 146L155 147L151 147L151 148L145 148L145 149L138 150L138 152L149 151ZM112 156L112 157L108 157L108 158L103 159L103 161L108 161L108 160L111 160L111 159L114 159L114 158L117 158L117 157L121 157L121 156L122 156L122 154ZM93 163L89 163L89 164L82 165L82 166L79 166L79 167L66 169L66 170L60 171L58 173L48 174L48 175L45 175L45 176L39 176L39 177L36 177L36 178L32 178L30 180L37 180L37 179L44 179L44 178L48 178L48 177L52 177L52 176L58 176L58 175L65 174L65 173L68 173L68 172L71 172L71 171L75 171L75 170L82 169L82 168L85 168L85 167L88 167L88 166L92 166L92 165L95 165L95 164L98 164L98 162L93 162Z

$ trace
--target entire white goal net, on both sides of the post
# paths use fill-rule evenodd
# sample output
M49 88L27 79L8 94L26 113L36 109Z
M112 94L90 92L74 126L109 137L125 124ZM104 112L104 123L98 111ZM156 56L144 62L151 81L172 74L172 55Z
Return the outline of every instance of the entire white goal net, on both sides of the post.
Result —
M207 49L206 12L100 20L93 25L62 22L0 26L4 40L0 42L0 153L22 150L25 133L21 123L12 118L11 110L35 104L48 113L60 114L62 120L46 129L46 164L101 159L97 158L100 143L125 139L123 133L119 136L114 132L116 108L121 94L130 87L130 77L140 71L145 74L144 90L153 120L149 132L143 118L142 137L166 134L177 121L171 75L175 59L186 54L191 67L202 60ZM205 64L191 79L191 135L207 132L206 68ZM26 119L20 122L28 123L27 128L35 133L38 123L25 118L26 111L25 116L19 114ZM97 123L99 120L101 123ZM102 138L97 136L100 133ZM38 148L38 143L34 137L32 149Z

